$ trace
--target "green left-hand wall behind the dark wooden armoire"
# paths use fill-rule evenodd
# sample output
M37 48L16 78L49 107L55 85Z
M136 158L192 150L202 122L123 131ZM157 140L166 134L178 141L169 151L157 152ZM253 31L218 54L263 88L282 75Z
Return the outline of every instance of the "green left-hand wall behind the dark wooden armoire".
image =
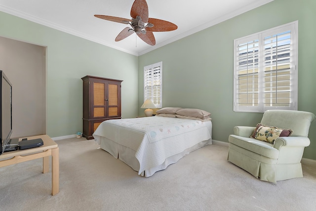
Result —
M122 117L137 115L137 56L3 12L0 36L47 46L46 133L50 137L82 131L81 77L85 75L123 80Z

